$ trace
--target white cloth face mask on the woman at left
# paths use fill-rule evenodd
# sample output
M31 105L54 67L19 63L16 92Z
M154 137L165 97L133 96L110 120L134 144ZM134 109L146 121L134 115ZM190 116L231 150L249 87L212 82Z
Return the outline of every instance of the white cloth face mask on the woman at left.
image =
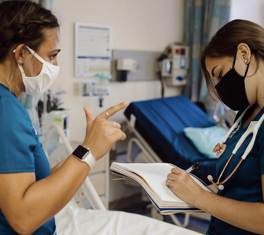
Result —
M38 95L48 90L48 88L57 78L60 67L45 61L37 53L35 53L35 51L30 49L28 46L26 47L28 48L30 53L35 56L35 58L43 63L42 69L39 75L35 77L26 77L23 67L20 64L18 64L18 68L21 72L22 80L25 85L25 93L28 95ZM14 50L14 53L15 52L16 50Z

